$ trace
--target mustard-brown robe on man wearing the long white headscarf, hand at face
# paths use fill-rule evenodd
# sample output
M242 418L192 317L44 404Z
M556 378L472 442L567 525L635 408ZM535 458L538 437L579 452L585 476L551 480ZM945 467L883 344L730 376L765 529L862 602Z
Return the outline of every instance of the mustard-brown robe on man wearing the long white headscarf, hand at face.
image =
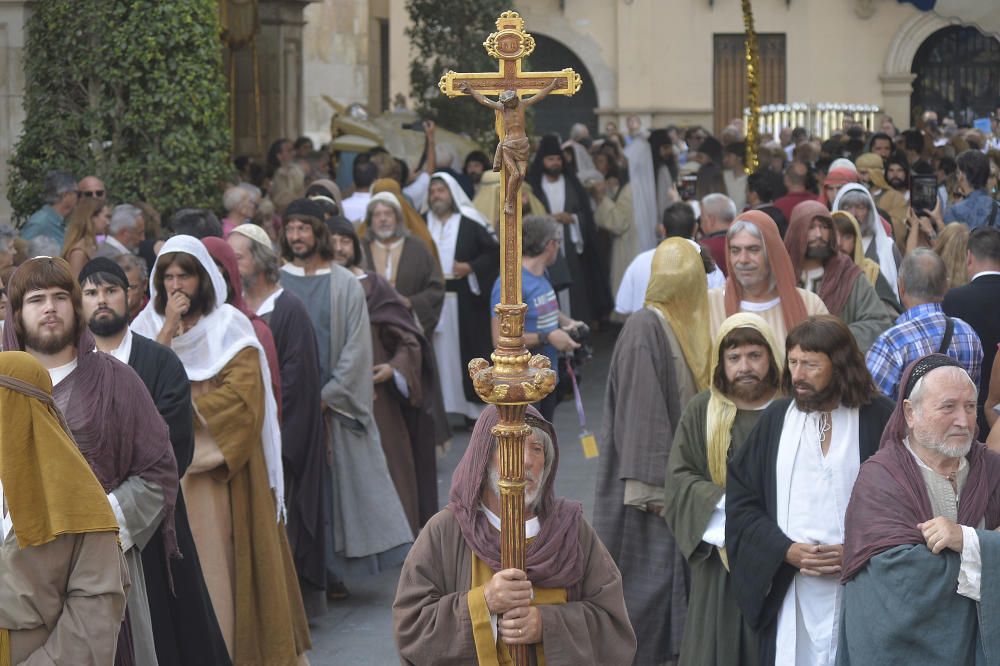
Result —
M284 525L261 447L264 386L247 347L192 382L195 453L182 485L202 570L233 664L295 664L310 646Z

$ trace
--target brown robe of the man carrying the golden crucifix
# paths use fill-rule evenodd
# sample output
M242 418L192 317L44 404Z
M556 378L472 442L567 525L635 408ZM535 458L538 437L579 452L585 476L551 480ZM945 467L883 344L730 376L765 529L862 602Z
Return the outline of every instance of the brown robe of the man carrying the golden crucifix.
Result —
M621 575L585 520L580 521L580 548L583 579L568 590L569 601L539 606L546 664L630 664L635 634L625 612ZM454 514L445 509L424 526L399 576L392 619L402 664L477 663L471 582L472 550Z

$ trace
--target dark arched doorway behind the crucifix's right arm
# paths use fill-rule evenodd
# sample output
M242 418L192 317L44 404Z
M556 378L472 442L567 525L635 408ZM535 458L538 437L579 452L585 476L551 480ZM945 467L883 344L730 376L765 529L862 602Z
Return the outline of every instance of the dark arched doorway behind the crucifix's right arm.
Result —
M535 38L535 51L525 64L526 70L558 71L572 67L583 80L580 92L572 97L552 95L534 107L532 133L540 136L555 132L566 139L573 123L583 123L590 128L591 135L596 136L597 114L594 109L597 108L597 87L586 65L562 42L545 35L532 34Z

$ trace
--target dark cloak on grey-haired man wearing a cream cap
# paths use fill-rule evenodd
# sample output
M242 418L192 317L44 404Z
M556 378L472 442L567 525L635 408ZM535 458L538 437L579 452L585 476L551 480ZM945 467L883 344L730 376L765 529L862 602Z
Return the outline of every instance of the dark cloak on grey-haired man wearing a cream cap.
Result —
M326 562L323 539L326 520L322 470L326 434L319 400L320 368L316 333L302 301L287 289L262 317L274 335L281 371L281 462L285 471L286 529L300 583L323 594ZM322 595L302 597L309 615L325 611Z

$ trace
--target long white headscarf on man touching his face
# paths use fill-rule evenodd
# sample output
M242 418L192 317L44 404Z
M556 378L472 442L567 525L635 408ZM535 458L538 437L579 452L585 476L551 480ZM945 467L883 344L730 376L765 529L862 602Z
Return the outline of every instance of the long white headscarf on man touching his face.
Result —
M184 364L188 379L193 382L215 377L229 363L237 352L253 347L260 358L261 382L264 384L264 426L261 430L261 446L267 463L267 479L274 491L277 502L278 520L285 517L285 477L281 464L281 429L278 425L278 403L271 390L271 371L267 365L264 347L257 339L253 324L246 315L226 303L225 278L215 265L208 249L193 236L174 236L160 249L156 263L149 272L149 303L132 322L131 329L139 335L156 339L166 321L156 312L156 284L152 276L160 257L173 252L183 252L193 256L208 274L215 290L215 307L198 320L191 329L178 335L170 342L170 348Z

